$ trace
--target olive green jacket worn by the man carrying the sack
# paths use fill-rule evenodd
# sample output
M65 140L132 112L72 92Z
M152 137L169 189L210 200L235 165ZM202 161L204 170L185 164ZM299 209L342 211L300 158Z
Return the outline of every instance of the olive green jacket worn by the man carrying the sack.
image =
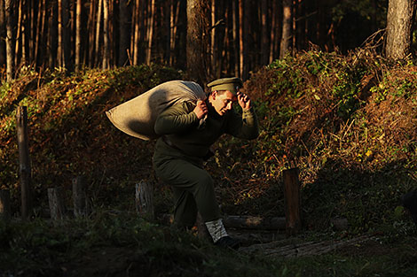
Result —
M229 111L220 116L208 104L208 117L201 124L201 120L193 112L194 107L195 104L185 102L161 112L154 126L155 133L162 135L156 144L155 154L181 153L189 157L204 158L209 153L209 147L223 134L243 139L255 139L259 135L258 121L253 108L243 111L241 115ZM167 142L170 147L166 147Z

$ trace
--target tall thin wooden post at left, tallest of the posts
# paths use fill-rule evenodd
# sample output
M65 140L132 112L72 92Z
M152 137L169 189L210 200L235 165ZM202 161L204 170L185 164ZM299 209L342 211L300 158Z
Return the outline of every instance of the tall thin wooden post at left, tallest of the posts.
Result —
M31 166L28 142L28 107L18 107L16 112L16 123L19 147L21 216L23 219L28 219L32 212L32 193L30 188Z

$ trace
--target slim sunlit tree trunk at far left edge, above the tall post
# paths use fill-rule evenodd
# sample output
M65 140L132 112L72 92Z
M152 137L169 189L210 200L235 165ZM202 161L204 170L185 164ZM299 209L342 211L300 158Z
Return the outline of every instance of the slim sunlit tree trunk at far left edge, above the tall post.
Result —
M6 19L6 61L7 61L7 81L12 81L14 71L14 50L13 50L13 2L14 0L4 0L4 11Z

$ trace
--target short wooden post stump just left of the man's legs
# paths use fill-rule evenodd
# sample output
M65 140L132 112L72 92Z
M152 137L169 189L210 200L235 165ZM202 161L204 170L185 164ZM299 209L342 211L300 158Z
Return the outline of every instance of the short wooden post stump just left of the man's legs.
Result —
M141 216L147 219L153 219L153 188L146 181L140 181L136 184L136 210Z

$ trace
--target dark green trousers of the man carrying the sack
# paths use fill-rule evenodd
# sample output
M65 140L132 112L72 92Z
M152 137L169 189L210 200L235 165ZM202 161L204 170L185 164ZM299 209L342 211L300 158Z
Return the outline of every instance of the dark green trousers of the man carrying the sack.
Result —
M204 222L220 219L213 179L209 173L192 160L162 157L153 156L153 168L161 181L173 190L177 227L193 227L197 212L200 212Z

